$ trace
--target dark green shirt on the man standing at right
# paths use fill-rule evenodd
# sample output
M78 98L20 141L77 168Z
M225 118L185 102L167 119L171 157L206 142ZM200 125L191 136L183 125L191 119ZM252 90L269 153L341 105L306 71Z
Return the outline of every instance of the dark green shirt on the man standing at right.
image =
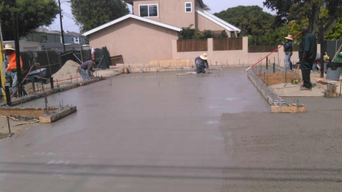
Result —
M300 43L298 50L299 60L302 60L304 51L307 51L308 54L303 61L308 63L314 62L317 54L317 43L316 37L312 33L306 33L302 38L302 42Z

